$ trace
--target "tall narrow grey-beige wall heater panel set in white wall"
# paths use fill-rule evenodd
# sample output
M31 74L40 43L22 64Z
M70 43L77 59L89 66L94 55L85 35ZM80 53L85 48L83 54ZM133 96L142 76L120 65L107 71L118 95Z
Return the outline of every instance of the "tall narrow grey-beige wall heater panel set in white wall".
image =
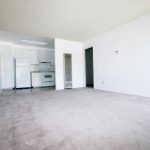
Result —
M64 54L64 88L72 88L72 55Z

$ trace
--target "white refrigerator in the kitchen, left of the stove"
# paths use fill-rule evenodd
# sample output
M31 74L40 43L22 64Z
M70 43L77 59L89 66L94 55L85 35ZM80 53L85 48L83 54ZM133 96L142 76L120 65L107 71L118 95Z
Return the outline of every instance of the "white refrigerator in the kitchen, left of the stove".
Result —
M29 87L31 87L29 60L16 59L16 88Z

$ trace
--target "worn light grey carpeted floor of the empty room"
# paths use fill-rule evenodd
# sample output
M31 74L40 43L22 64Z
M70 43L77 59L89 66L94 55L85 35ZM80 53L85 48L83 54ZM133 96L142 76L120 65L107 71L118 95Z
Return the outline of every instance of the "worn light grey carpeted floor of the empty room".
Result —
M0 150L150 150L150 98L88 88L4 94Z

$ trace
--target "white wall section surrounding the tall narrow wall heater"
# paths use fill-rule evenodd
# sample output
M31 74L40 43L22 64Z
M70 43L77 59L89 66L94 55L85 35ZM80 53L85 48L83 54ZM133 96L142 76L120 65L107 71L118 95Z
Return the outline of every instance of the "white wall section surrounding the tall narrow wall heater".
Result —
M64 89L64 53L72 54L73 88L84 87L83 44L79 42L55 39L56 89Z

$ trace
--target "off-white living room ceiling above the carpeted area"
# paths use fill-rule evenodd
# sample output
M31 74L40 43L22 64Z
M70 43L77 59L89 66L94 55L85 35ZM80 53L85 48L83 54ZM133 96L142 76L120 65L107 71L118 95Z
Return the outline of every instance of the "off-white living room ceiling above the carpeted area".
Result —
M86 41L150 11L150 0L0 0L0 30Z

